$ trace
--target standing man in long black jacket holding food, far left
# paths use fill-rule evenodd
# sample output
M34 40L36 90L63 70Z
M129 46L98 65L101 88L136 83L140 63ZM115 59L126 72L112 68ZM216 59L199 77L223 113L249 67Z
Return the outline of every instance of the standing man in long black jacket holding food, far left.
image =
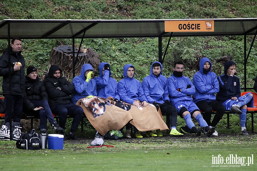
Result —
M9 106L9 94L5 95L5 122L11 122L10 114L12 114L13 122L21 122L23 96L25 95L25 60L21 55L21 47L21 39L13 38L11 47L6 48L0 57L3 93L9 93L9 83L11 83L11 106ZM11 77L9 77L9 50Z

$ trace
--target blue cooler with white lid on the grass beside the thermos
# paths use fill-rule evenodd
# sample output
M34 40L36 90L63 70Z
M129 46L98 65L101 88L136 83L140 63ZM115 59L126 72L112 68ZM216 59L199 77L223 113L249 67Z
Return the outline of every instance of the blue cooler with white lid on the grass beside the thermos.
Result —
M63 137L61 134L49 134L48 149L63 150Z

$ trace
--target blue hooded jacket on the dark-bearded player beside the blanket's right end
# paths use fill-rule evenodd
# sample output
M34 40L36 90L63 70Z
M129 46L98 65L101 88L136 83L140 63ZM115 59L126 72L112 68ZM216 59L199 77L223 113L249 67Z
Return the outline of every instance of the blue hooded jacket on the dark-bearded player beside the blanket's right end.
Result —
M158 77L156 77L152 72L152 65L154 63L159 63L161 66L161 72ZM168 95L167 78L162 74L162 64L160 62L153 62L151 65L150 75L143 79L142 87L144 90L145 97L148 103L164 103L165 100L170 101Z

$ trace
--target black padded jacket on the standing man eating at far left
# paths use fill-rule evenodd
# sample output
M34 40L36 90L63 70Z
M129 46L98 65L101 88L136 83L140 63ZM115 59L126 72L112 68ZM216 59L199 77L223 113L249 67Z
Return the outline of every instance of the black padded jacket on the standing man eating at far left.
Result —
M16 55L11 50L11 94L25 95L25 60L21 55L21 51ZM15 62L21 62L22 67L19 71L14 71ZM9 93L9 65L8 65L8 48L5 49L0 57L0 76L3 77L2 89L3 93Z

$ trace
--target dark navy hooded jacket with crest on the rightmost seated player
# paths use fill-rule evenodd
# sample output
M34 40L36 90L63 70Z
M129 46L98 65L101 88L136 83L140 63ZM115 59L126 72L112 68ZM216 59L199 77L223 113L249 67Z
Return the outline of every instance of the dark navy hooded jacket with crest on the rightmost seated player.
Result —
M220 85L220 91L216 95L217 101L223 103L224 101L231 99L232 97L240 97L240 81L236 76L228 76L227 70L232 64L235 64L233 61L227 61L224 64L224 74L218 76L218 82Z

